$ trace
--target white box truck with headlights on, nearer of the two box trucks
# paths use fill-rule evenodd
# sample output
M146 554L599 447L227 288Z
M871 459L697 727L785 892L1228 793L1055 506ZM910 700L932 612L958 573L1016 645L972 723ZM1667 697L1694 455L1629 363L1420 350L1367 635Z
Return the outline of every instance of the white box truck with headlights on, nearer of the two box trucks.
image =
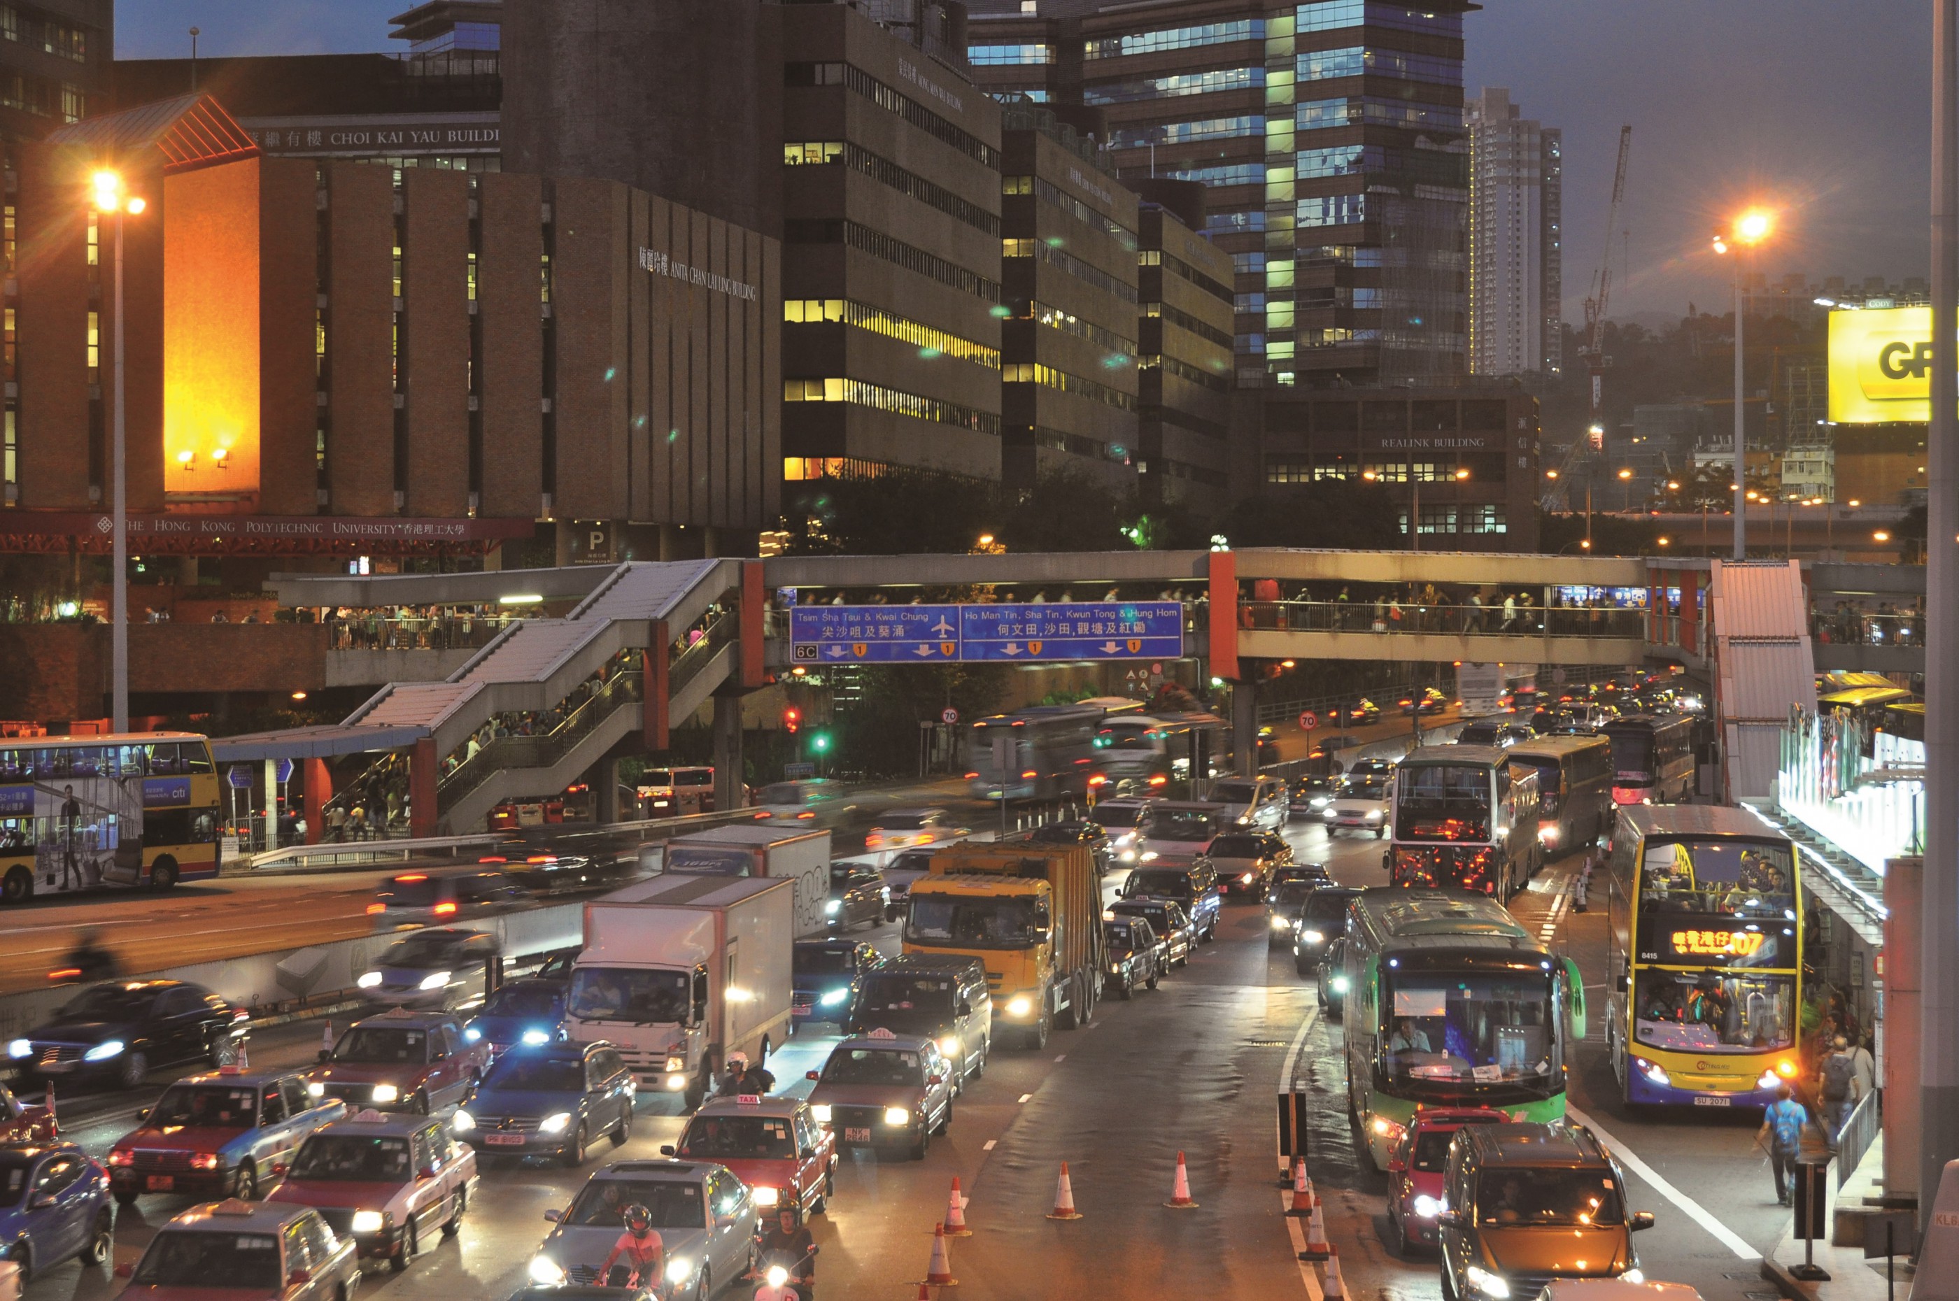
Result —
M586 903L570 1036L697 1107L731 1052L760 1062L789 1036L793 897L772 878L658 876Z

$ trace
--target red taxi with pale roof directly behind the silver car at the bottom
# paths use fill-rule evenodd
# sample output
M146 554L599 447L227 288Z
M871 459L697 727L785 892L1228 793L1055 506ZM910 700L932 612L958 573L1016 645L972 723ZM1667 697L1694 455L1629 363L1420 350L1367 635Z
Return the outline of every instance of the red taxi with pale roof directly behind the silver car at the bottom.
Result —
M817 1125L801 1097L717 1097L660 1156L727 1166L764 1219L784 1207L815 1215L836 1191L836 1134Z

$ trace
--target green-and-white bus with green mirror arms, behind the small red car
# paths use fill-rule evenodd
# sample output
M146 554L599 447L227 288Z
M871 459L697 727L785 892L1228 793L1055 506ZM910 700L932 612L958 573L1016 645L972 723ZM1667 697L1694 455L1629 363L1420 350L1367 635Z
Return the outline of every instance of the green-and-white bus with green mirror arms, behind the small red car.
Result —
M1585 982L1495 899L1363 890L1338 940L1348 1101L1373 1164L1426 1107L1565 1115Z

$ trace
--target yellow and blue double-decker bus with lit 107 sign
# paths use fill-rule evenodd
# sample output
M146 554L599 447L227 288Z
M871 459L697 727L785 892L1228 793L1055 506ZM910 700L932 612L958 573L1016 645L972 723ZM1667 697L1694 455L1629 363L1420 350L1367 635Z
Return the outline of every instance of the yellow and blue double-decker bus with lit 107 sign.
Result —
M1628 805L1606 880L1606 1038L1626 1101L1775 1101L1802 1074L1794 846L1747 809Z

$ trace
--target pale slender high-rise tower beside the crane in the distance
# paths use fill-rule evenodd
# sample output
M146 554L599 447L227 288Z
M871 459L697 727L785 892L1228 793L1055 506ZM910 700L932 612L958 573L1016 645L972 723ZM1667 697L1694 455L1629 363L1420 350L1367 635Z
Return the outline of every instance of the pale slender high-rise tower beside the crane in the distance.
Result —
M1469 370L1561 368L1563 133L1503 86L1467 102Z

